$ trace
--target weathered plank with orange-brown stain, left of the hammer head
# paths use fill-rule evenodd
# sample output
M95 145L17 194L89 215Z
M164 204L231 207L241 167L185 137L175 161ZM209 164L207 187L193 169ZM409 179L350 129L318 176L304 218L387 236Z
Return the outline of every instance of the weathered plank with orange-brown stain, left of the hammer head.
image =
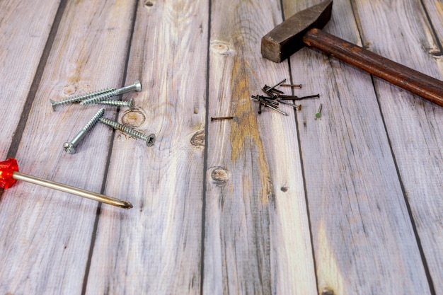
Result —
M235 119L207 127L205 294L316 292L294 111L251 100L289 78L260 55L279 5L212 1L208 112Z

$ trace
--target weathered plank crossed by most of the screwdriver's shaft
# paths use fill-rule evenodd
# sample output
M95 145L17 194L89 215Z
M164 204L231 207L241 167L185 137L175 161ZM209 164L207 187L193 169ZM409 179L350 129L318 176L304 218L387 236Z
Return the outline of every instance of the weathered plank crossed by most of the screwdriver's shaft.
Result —
M111 135L108 128L95 127L77 154L62 149L98 107L70 105L54 112L49 99L120 86L134 3L67 4L17 151L23 173L100 192ZM115 42L117 36L120 42ZM115 110L107 108L106 113L115 114ZM0 263L7 265L0 271L1 293L78 294L97 207L89 199L28 183L6 190L0 207L1 232L8 237L0 245ZM103 212L109 211L122 209L103 206Z

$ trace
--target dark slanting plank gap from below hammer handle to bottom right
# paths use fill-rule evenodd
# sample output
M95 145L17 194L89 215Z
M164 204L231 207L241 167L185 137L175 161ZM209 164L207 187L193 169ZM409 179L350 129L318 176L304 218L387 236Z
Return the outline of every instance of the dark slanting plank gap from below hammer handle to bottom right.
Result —
M375 87L374 76L371 75L371 79L372 79L372 84L374 85L374 91L375 91L376 100L377 100L377 103L379 105L381 120L383 122L384 130L386 132L386 138L388 139L389 149L391 150L393 164L394 164L394 166L396 168L396 173L397 173L397 177L398 177L398 183L400 183L401 192L402 192L403 197L405 199L405 207L408 210L410 224L411 224L411 227L413 229L413 233L414 233L414 236L415 236L415 241L417 242L418 251L420 252L420 258L422 260L423 269L425 270L425 275L426 275L427 283L429 284L429 289L430 289L431 294L432 295L436 295L437 293L435 291L434 280L432 279L432 276L431 276L431 273L430 273L430 269L429 269L429 266L427 264L427 260L426 260L426 256L425 256L425 251L423 250L422 242L420 240L420 236L418 235L418 230L417 230L417 226L416 226L415 219L414 219L414 216L413 216L413 212L412 212L412 209L410 208L410 203L408 201L408 197L406 196L405 185L403 185L403 180L401 178L400 169L398 168L397 158L396 158L396 155L394 154L394 151L393 151L391 137L389 137L388 127L386 126L386 120L384 120L384 113L381 110L381 104L380 104L380 100L379 100L379 93L377 91L377 88Z

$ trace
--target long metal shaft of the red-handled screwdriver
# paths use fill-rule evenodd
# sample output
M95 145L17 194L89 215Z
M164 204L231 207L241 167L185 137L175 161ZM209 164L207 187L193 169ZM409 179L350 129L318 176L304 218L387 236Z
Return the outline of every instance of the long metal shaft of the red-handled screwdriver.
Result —
M103 202L103 203L117 206L120 208L124 208L124 209L131 209L132 208L132 204L130 202L123 201L121 199L107 197L105 195L100 195L96 192L90 192L88 190L83 190L78 187L72 187L71 185L64 185L62 183L56 183L51 180L38 178L33 175L27 175L24 173L20 173L18 171L15 171L12 174L12 177L16 180L23 180L28 183L34 183L35 185L42 185L44 187L50 187L54 190L61 190L62 192L68 192L69 194L78 195L80 197L86 197L88 199L93 199L94 201L97 201L97 202Z

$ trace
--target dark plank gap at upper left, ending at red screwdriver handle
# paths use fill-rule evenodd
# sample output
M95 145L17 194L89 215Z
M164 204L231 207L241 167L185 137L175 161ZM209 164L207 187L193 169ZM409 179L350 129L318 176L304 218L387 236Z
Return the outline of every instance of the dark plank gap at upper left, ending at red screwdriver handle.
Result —
M42 57L40 57L40 62L38 63L37 70L35 71L35 76L33 79L33 83L31 83L28 96L25 100L25 105L23 106L23 111L21 112L21 120L18 122L16 131L13 134L13 138L11 141L11 146L9 146L7 157L15 158L18 150L18 146L20 145L21 139L23 137L23 131L25 130L26 123L28 122L28 117L30 110L33 106L33 102L35 99L35 93L40 86L40 81L42 80L43 71L45 71L45 66L47 63L47 59L50 56L50 52L52 50L52 45L54 44L55 36L57 35L57 31L59 29L59 24L62 20L62 16L64 13L64 9L67 6L67 0L60 1L59 8L57 9L57 13L54 17L54 22L52 23L52 27L50 30L50 34L47 37L45 49L42 52ZM3 195L3 191L0 195Z

